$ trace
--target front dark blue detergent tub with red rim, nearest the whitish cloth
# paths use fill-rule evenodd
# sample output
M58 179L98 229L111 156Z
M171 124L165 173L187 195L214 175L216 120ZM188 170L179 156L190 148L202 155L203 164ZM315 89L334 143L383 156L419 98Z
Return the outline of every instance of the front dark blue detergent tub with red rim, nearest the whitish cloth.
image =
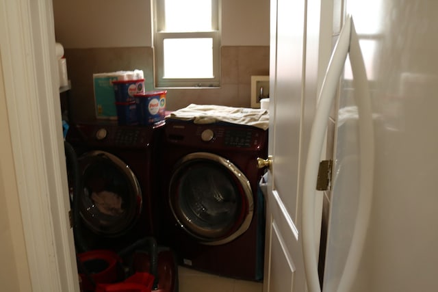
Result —
M166 117L167 90L147 91L134 94L139 124L159 124Z

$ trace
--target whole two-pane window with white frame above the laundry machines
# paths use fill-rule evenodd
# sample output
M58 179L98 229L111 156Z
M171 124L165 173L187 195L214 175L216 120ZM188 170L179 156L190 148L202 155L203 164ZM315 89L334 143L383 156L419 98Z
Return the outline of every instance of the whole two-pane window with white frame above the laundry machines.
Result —
M219 85L220 0L155 0L157 87Z

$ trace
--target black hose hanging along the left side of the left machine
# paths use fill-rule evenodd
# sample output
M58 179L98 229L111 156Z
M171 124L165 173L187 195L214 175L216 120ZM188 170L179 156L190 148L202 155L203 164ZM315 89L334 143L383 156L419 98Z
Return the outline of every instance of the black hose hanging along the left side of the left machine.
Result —
M67 170L69 170L70 181L73 187L73 198L70 198L70 207L73 213L73 235L75 237L75 247L77 253L88 251L88 245L83 239L81 230L81 217L79 213L79 196L83 191L82 174L79 168L79 162L75 148L70 143L64 141L64 150L66 153Z

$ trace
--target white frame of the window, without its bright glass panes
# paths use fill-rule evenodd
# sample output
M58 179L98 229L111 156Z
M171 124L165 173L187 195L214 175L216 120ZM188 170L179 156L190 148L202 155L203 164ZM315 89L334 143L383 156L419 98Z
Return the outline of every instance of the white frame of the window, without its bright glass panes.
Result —
M211 0L211 31L194 32L165 31L164 1L154 0L153 3L155 87L218 87L220 85L220 0ZM213 40L213 78L164 78L163 44L168 38L211 38Z

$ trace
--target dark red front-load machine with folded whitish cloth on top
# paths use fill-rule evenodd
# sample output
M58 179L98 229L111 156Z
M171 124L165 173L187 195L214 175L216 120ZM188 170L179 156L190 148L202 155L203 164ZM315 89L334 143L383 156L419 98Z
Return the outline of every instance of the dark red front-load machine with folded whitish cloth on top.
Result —
M181 265L261 280L265 213L257 157L266 157L268 132L169 119L163 137L159 239Z

